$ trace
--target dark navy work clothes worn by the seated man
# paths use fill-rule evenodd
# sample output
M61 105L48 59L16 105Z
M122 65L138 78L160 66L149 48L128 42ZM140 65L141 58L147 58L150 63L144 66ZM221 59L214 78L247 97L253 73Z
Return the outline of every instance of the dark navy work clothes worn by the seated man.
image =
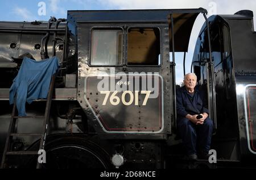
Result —
M177 107L177 131L183 140L187 154L208 153L212 139L213 123L210 118L205 119L204 124L194 124L185 118L187 114L199 115L203 112L209 114L207 97L203 90L195 88L192 96L185 86L176 91Z

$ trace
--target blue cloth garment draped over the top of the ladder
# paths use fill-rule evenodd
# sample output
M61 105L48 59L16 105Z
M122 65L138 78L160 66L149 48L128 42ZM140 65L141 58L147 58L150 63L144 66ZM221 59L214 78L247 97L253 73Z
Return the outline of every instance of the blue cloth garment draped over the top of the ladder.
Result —
M57 57L42 61L31 60L25 57L20 66L18 75L13 80L9 93L10 104L14 103L19 116L26 116L26 101L31 103L35 99L47 98L52 75L59 69Z

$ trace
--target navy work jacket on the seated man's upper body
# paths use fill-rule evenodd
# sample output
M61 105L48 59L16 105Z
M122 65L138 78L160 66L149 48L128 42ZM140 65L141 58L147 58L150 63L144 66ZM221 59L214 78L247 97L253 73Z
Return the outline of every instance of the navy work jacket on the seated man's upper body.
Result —
M185 89L185 86L176 91L177 118L185 117L187 114L195 115L206 112L209 114L207 96L199 86L195 87L193 98Z

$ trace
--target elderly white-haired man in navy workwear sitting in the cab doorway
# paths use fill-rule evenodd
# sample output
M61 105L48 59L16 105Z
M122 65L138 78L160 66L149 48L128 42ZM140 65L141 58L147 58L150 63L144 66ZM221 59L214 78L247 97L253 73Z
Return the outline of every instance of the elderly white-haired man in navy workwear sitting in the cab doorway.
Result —
M213 123L208 118L207 97L196 87L196 74L184 77L184 86L176 91L177 130L190 160L208 159Z

